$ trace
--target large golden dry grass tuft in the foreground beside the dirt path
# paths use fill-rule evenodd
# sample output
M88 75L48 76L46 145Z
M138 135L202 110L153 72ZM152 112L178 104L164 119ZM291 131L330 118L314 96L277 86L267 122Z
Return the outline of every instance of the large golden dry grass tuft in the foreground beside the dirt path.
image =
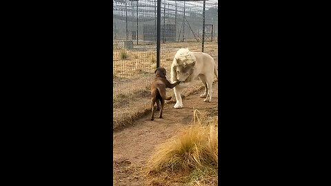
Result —
M185 183L199 185L216 181L217 185L217 121L217 116L210 119L205 113L194 110L192 125L157 147L148 160L146 176L159 183L176 178L170 182L178 183L178 175L181 175Z

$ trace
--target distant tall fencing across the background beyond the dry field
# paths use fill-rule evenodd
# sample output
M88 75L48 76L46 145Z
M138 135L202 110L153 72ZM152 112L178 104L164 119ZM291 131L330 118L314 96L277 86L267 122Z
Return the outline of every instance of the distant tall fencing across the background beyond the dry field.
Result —
M116 0L113 6L113 37L132 41L156 42L157 0ZM203 1L161 1L161 40L169 41L167 33L174 32L176 41L201 41L203 34ZM205 31L215 40L218 35L217 1L205 3ZM168 37L168 39L167 39ZM137 43L137 42L136 42Z

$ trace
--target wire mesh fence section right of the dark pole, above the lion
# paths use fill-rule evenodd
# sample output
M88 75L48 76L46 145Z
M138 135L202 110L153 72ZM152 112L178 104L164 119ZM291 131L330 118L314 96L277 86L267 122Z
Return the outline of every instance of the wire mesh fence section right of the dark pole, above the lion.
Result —
M208 54L213 56L214 59L217 59L218 52L217 2L218 1L205 1L204 52L207 52ZM201 52L201 43L203 38L202 34L203 1L161 1L160 65L163 66L167 70L167 72L170 72L170 66L174 54L176 54L179 48L188 48L191 51Z

